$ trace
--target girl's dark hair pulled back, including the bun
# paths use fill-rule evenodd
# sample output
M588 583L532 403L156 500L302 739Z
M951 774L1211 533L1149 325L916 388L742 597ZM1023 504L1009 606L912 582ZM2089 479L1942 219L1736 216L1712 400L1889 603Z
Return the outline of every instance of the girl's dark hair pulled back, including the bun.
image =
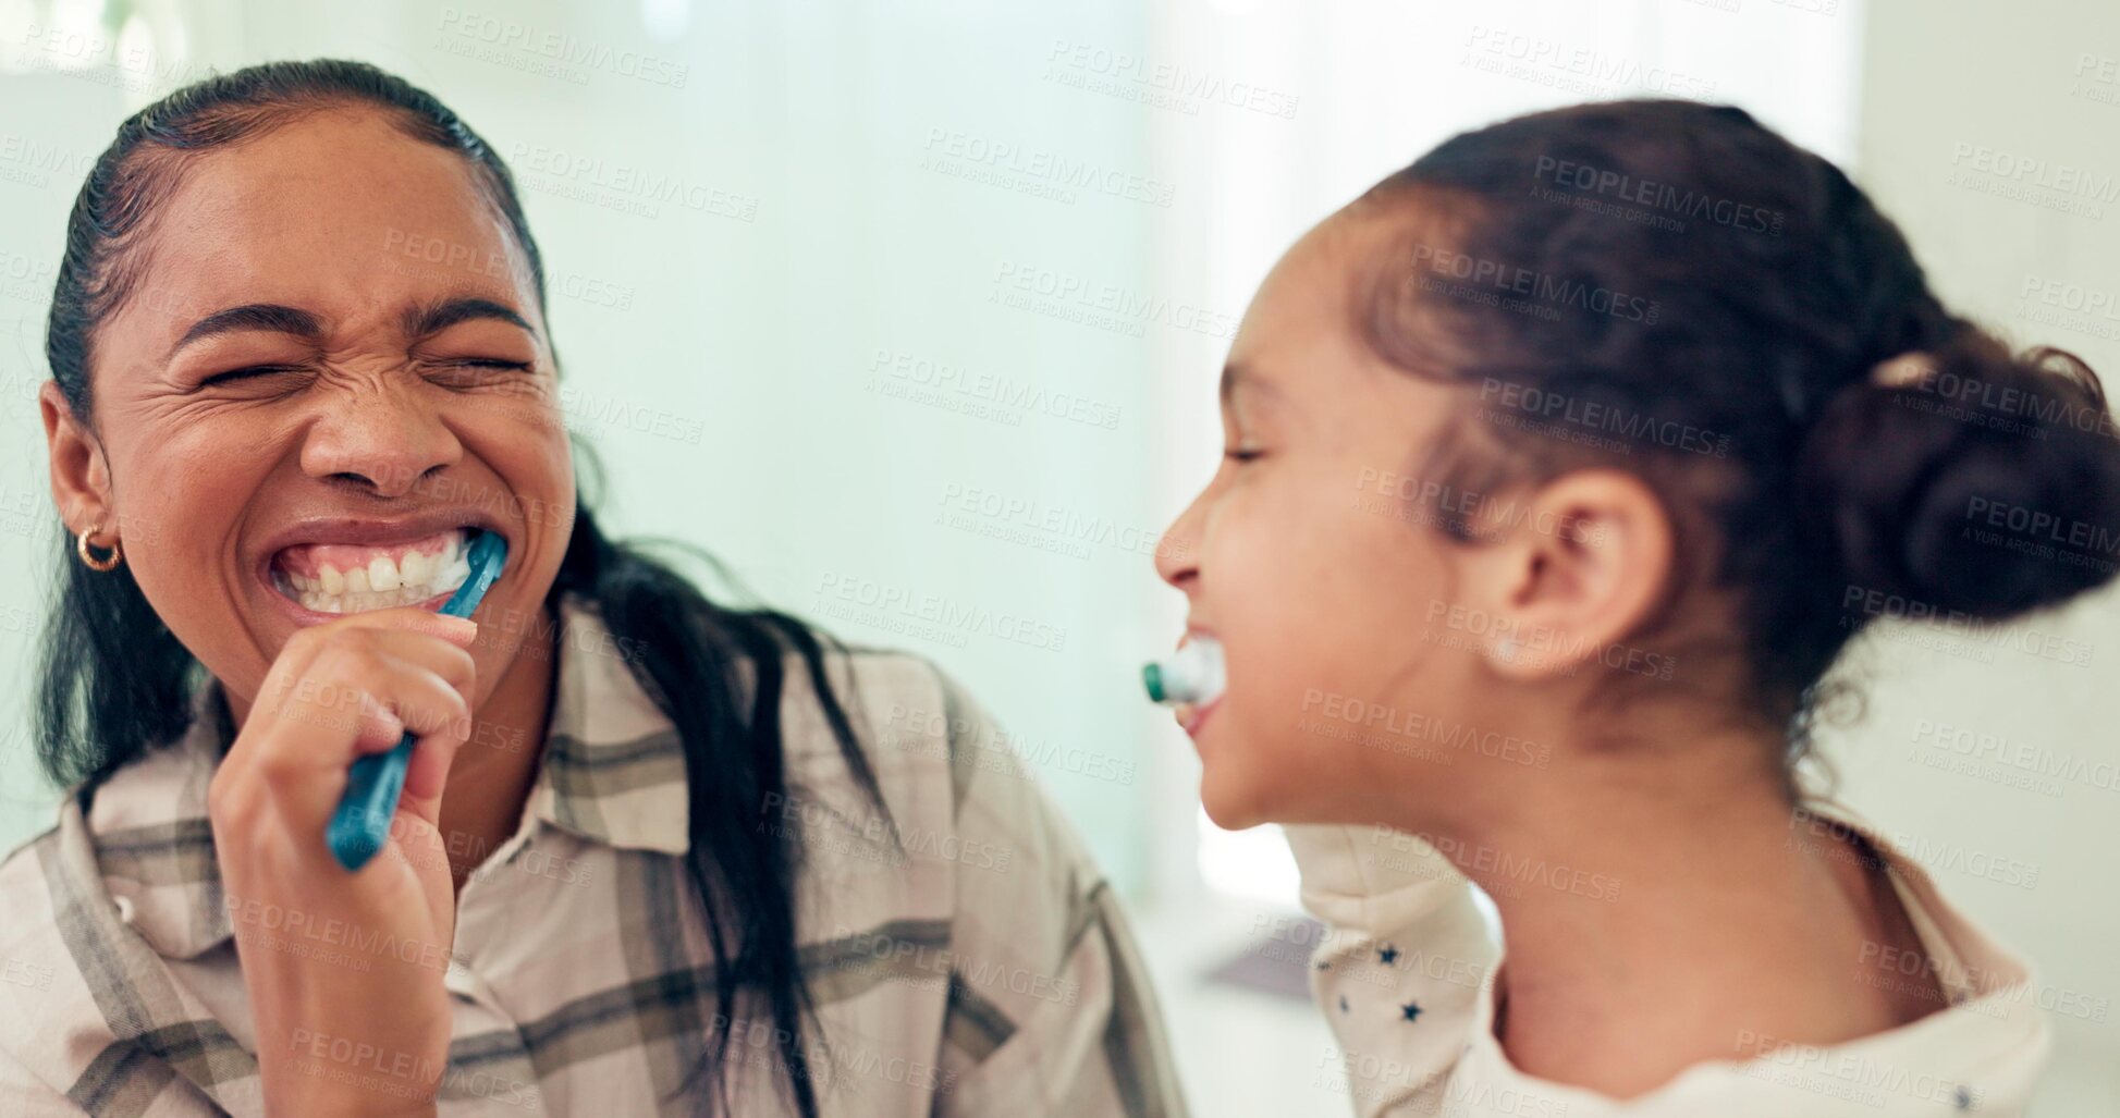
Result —
M1641 475L1681 543L1643 628L1690 579L1732 590L1743 639L1724 651L1789 730L1791 768L1838 692L1821 677L1874 617L2001 622L2120 562L2099 378L1944 310L1838 168L1741 108L1516 117L1353 210L1391 229L1357 269L1357 333L1478 416L1446 426L1427 475L1456 494Z

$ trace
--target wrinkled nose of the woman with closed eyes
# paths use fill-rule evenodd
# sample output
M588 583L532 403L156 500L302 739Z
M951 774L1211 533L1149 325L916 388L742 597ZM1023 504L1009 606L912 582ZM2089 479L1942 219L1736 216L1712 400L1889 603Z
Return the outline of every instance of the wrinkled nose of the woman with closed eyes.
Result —
M456 433L420 392L401 384L369 384L320 401L301 448L310 477L346 477L375 496L403 496L437 467L464 454Z

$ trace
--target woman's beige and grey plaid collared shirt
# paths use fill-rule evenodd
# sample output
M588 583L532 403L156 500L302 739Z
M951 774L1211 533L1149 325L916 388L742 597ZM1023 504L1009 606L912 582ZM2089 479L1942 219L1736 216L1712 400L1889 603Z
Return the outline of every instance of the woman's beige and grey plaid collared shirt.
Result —
M594 609L566 598L562 626L522 825L483 859L471 851L454 957L437 959L454 1012L439 1110L691 1114L714 967L687 904L683 745ZM852 687L897 840L799 668L782 696L791 791L755 827L801 838L823 1112L1183 1116L1111 887L1003 732L918 656L861 649L829 666ZM246 946L261 936L348 965L390 950L223 897L206 819L223 749L216 719L195 717L91 802L66 798L57 825L0 863L0 1114L263 1114L231 910ZM734 1110L793 1110L772 1016L738 1016L731 1035ZM390 1059L293 1040L265 1059L339 1082Z

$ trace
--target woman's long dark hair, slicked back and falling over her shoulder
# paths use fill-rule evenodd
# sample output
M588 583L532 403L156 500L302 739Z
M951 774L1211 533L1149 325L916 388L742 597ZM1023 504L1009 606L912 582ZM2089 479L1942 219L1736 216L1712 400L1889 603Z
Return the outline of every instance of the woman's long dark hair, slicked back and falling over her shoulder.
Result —
M456 112L360 62L252 66L178 89L129 117L74 199L45 352L81 422L93 422L89 367L95 327L136 295L142 255L134 242L153 231L155 212L170 197L187 153L233 144L331 108L377 110L407 136L462 155L507 216L543 305L545 269L515 182ZM187 730L189 696L204 668L161 624L129 566L91 573L70 560L70 541L61 543L59 598L42 647L38 753L55 783L87 793L117 768ZM816 1084L808 1063L814 1046L803 1040L803 1020L814 1023L814 1012L795 944L793 878L801 849L791 829L761 832L757 819L763 804L787 796L780 694L793 656L818 694L846 764L888 821L846 702L827 679L825 647L837 643L784 613L710 602L670 566L606 539L581 494L575 532L547 600L558 605L566 592L596 605L619 647L640 649L628 666L685 745L691 813L687 876L710 933L717 1023L725 1025L712 1029L691 1082L704 1078L714 1084L708 1101L725 1101L723 1069L742 1023L738 997L746 1006L763 999L774 1018L787 1088L797 1112L814 1116ZM227 711L216 715L223 730L233 732Z

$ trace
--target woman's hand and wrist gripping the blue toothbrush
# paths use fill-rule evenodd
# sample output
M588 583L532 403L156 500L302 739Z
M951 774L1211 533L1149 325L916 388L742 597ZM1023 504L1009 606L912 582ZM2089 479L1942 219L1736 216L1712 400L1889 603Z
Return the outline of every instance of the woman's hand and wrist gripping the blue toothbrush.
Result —
M456 889L439 834L471 734L477 624L377 609L297 632L208 787L257 1023L267 1114L435 1114ZM324 842L348 766L418 736L388 844L346 872Z

